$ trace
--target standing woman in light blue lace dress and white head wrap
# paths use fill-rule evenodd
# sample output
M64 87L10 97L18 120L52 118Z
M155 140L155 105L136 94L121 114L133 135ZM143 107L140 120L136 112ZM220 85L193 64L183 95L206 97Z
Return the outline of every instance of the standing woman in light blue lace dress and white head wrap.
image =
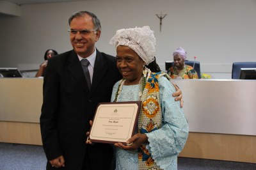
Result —
M116 47L116 66L123 76L113 87L111 101L142 102L137 132L127 141L132 145L115 143L116 169L177 169L188 123L172 97L175 88L168 75L146 67L156 65L154 32L148 26L120 29L110 43Z

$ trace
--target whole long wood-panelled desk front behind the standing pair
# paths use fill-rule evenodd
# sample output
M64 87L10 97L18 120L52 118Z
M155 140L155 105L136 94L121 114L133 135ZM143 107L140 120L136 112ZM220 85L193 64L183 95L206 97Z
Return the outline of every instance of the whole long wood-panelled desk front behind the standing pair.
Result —
M180 157L256 163L256 81L173 80L189 137ZM0 142L41 145L43 79L0 79Z

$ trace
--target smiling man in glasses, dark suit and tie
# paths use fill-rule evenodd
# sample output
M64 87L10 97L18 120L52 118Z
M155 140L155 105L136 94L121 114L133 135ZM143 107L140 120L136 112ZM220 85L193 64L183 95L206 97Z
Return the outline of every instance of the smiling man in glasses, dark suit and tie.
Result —
M101 29L96 15L77 12L68 23L73 50L49 59L44 76L40 127L47 169L109 169L113 148L86 144L86 132L97 105L110 102L113 85L122 76L115 58L95 48ZM85 58L90 63L87 81L80 62Z

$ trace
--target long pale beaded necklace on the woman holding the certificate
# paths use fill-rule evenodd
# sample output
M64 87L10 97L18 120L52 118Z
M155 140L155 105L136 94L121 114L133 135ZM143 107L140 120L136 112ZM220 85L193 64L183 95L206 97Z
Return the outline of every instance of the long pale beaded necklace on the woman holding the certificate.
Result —
M144 89L145 89L146 82L148 81L148 78L150 77L151 71L150 71L148 68L145 67L142 73L143 73L143 76L141 77L140 82L139 82L139 84L141 85L141 89L140 89L140 92L139 92L139 94L138 94L140 99L141 99L141 96L142 96L143 91L144 91ZM118 101L118 97L119 97L119 95L120 95L120 93L121 93L121 91L122 91L122 88L123 88L123 86L124 86L124 82L125 82L125 79L122 79L122 80L120 81L120 83L119 83L119 85L118 85L118 89L117 89L117 91L116 91L116 95L115 95L115 100L114 100L114 102L117 102L117 101ZM139 100L140 100L140 99L139 99Z

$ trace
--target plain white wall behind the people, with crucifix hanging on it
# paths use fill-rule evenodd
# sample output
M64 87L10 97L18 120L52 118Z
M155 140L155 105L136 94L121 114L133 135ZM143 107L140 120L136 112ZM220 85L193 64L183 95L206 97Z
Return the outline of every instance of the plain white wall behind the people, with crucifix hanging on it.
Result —
M0 15L0 67L38 68L46 49L72 49L67 29L74 12L95 13L102 24L97 48L115 55L110 38L121 28L150 26L157 40L157 63L172 60L183 47L201 71L230 79L232 63L256 61L255 0L76 1L20 6L20 17ZM167 14L162 31L156 14Z

